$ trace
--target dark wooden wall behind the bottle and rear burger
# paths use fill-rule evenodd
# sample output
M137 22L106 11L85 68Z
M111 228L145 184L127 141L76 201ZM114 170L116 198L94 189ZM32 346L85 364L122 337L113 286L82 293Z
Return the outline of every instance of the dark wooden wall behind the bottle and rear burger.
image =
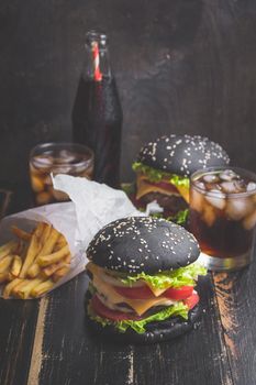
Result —
M165 133L208 135L255 170L255 0L1 0L0 180L32 146L69 140L85 32L109 34L124 111L122 179Z

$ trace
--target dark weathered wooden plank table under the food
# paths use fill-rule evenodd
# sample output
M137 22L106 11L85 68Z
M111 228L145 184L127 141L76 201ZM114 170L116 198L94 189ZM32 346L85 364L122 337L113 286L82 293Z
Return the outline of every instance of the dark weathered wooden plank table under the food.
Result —
M1 385L254 385L256 261L200 279L200 327L162 344L120 346L85 323L86 273L41 300L0 299Z

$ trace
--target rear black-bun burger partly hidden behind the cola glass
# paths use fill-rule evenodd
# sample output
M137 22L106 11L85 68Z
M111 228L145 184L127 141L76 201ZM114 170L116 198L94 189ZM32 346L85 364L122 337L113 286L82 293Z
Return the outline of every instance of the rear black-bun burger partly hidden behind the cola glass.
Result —
M220 144L199 135L168 135L144 145L133 164L137 207L156 200L164 218L182 223L188 213L189 176L200 169L230 163Z

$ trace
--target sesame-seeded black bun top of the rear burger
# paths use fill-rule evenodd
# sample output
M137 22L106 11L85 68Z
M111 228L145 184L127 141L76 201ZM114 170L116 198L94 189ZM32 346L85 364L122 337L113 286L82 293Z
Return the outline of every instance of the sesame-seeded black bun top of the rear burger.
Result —
M230 157L220 144L208 138L171 134L143 146L137 162L167 173L189 176L200 168L225 166Z

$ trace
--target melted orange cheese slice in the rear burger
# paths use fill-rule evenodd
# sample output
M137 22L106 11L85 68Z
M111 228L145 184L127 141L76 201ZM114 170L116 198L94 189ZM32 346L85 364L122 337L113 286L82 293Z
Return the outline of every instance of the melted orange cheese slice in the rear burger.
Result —
M164 195L168 195L168 196L179 196L179 194L181 195L181 197L189 202L189 189L187 187L183 186L175 186L177 188L178 193L174 193L174 191L168 191L167 189L153 185L151 183L148 183L147 177L145 175L138 174L137 175L137 180L136 180L136 185L137 185L137 191L136 191L136 199L141 199L143 196L145 196L148 193L160 193Z

